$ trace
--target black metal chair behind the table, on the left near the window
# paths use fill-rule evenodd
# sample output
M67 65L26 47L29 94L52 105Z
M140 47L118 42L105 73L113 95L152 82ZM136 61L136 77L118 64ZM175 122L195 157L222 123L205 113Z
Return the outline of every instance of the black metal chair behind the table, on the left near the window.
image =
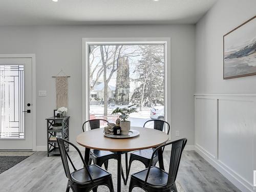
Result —
M82 124L82 131L84 132L84 125L86 125L86 123L90 123L90 129L94 130L94 129L98 129L100 127L100 121L104 121L104 122L109 122L107 120L104 119L91 119L88 120L86 122L84 122ZM90 158L89 158L89 165L92 163L98 165L98 166L102 166L102 164L104 164L104 167L106 170L108 170L108 166L109 166L109 159L116 159L117 160L117 155L113 152L109 152L109 151L102 151L102 150L91 150L90 152ZM122 168L122 178L123 178L123 182L125 182L125 178L124 178L124 174L123 174L123 168Z

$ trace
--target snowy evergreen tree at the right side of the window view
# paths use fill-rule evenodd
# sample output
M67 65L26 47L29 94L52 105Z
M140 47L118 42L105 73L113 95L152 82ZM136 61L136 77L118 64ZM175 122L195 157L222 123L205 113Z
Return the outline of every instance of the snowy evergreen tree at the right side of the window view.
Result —
M135 72L139 82L131 101L143 106L164 103L164 56L163 46L140 46L142 58L138 61Z

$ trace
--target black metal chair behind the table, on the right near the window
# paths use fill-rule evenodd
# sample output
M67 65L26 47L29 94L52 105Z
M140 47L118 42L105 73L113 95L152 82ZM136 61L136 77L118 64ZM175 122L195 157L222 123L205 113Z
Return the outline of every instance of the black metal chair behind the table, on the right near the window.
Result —
M168 122L163 121L163 120L148 120L144 123L143 127L145 127L145 125L148 122L152 122L152 121L154 122L154 129L159 130L159 131L164 131L164 123L166 123L166 125L167 125L167 134L169 135L170 125L169 125ZM125 182L124 182L125 185L127 184L127 180L129 178L129 173L130 173L132 162L135 161L135 160L140 161L147 168L150 165L151 156L152 156L154 151L155 151L155 148L148 148L148 149L145 149L145 150L139 150L139 151L135 151L135 152L131 153L130 160L129 160L129 168L127 170L126 179L125 179ZM164 151L164 147L163 147L163 151ZM155 153L155 156L153 157L152 164L155 166L157 164L157 162L158 162L158 154Z

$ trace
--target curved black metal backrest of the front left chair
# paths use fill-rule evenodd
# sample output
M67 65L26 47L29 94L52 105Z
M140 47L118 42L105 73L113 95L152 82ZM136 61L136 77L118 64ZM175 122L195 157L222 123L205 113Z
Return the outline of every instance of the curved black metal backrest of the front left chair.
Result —
M82 162L83 162L83 166L86 168L87 173L88 173L88 175L89 175L89 177L90 177L90 179L91 179L91 182L93 182L92 176L91 176L91 174L90 174L90 172L89 172L89 169L88 169L88 166L87 166L86 162L84 161L84 159L82 158L82 154L81 154L80 150L77 148L77 146L75 146L75 145L74 145L73 143L71 143L70 141L67 141L67 140L65 140L65 139L60 138L59 136L56 136L56 138L57 138L57 142L58 142L58 147L59 147L59 152L60 152L61 161L62 161L62 164L63 164L63 167L64 167L65 174L66 174L67 178L68 178L70 181L72 181L71 173L70 173L70 168L69 168L69 162L71 163L73 169L74 169L74 170L77 170L76 167L74 166L74 164L73 164L73 162L72 162L72 160L71 160L71 158L70 158L68 152L67 152L66 146L67 146L67 144L70 144L70 145L72 145L72 146L76 149L76 151L78 152L78 154L79 154L79 156L80 156L80 158L81 158L81 160L82 160Z

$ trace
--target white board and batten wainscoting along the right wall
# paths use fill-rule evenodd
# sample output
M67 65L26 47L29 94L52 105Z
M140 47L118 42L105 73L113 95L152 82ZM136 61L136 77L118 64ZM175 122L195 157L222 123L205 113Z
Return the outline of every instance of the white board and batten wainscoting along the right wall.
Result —
M253 191L256 94L196 94L195 148L241 191Z

